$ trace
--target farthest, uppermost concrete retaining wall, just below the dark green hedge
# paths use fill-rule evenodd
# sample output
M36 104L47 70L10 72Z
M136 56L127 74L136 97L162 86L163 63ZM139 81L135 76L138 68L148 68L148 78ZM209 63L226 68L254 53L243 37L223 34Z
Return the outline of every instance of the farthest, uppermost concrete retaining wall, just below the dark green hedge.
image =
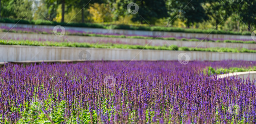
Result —
M23 27L23 28L46 28L53 29L55 26L50 25L27 25L27 24L13 24L13 23L0 23L0 26L7 27ZM82 27L68 27L64 26L65 30L76 30L85 31L92 33L103 33L103 34L124 34L124 35L143 35L143 36L153 36L153 31L136 31L136 30L121 30L121 29L101 29L101 28L82 28ZM160 31L155 31L160 33ZM203 34L203 33L180 33L180 32L164 32L164 36L173 37L188 37L188 38L209 38L209 39L243 39L252 40L251 36L244 35L222 35L222 34Z

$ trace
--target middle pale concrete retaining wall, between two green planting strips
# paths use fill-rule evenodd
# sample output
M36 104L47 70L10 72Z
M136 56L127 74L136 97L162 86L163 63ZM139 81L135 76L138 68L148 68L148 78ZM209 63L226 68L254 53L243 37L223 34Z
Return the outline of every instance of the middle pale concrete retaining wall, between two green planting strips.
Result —
M25 34L0 32L2 39L14 40L33 40L33 41L57 41L57 42L112 42L121 44L138 44L150 46L177 45L180 47L227 47L227 48L248 48L255 49L256 44L245 43L219 43L219 42L195 42L195 41L172 41L172 40L149 40L149 39L129 39L129 38L110 38L110 37L86 37L86 36L68 36L57 37L51 34Z

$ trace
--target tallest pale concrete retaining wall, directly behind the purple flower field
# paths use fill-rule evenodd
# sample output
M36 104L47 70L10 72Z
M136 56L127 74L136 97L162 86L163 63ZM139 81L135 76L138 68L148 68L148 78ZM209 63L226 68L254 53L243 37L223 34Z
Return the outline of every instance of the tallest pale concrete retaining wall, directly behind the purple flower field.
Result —
M78 60L79 53L86 50L90 60L177 60L180 53L189 55L190 60L247 60L255 61L253 53L216 53L199 51L169 51L142 49L105 49L0 45L0 62L37 60ZM83 58L86 58L83 56Z

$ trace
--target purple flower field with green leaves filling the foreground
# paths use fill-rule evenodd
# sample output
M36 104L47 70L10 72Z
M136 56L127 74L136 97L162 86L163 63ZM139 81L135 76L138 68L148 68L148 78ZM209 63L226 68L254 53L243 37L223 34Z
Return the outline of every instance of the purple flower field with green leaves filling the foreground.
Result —
M2 123L255 123L256 87L213 68L248 61L5 64ZM251 79L252 80L252 79Z

